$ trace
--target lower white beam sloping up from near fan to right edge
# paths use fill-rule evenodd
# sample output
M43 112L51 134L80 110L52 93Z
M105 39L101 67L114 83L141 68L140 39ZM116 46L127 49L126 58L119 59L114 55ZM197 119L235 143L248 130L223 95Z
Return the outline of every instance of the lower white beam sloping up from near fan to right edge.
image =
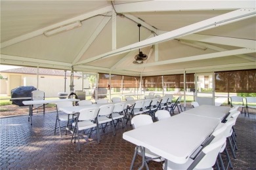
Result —
M249 48L241 48L238 50L229 50L229 51L225 51L225 52L215 52L215 53L211 53L211 54L202 54L202 55L190 56L190 57L186 57L186 58L169 59L169 60L158 61L158 62L154 62L154 63L145 63L143 65L133 65L128 68L152 67L152 66L156 66L156 65L181 63L181 62L186 62L186 61L196 61L196 60L200 60L200 59L222 58L225 56L234 56L234 55L238 55L238 54L249 54L249 53L253 53L253 52L256 52L256 50L249 49Z

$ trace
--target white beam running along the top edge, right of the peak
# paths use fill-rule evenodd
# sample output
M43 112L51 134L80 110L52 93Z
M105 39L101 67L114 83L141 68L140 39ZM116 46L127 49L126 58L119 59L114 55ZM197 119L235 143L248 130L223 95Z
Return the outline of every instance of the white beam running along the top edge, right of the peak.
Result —
M195 5L196 4L196 5ZM255 1L140 1L115 5L119 13L255 8Z

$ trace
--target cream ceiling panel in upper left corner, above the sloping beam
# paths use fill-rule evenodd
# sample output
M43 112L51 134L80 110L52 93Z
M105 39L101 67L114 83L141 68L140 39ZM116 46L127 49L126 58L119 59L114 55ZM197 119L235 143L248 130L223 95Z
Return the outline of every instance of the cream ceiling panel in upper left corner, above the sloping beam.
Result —
M108 1L1 1L1 42L108 5Z

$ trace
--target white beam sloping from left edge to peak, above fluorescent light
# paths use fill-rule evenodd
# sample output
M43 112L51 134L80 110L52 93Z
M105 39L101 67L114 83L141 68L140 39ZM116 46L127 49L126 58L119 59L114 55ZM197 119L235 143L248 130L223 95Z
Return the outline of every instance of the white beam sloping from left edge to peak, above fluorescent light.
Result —
M33 31L31 33L21 35L20 37L16 37L16 38L11 39L9 41L2 42L0 44L0 46L1 46L1 48L5 48L7 46L11 46L12 44L16 44L18 42L26 41L26 40L31 39L33 37L42 35L44 31L47 31L49 29L53 29L55 27L60 27L61 25L65 25L65 24L70 24L71 22L75 22L75 21L78 21L78 20L79 21L86 20L86 19L91 18L93 16L96 16L98 14L105 14L106 12L110 12L111 10L112 10L112 6L104 7L102 9L98 9L98 10L94 10L93 12L89 12L87 14L82 14L81 16L76 16L74 18L65 20L63 22L58 22L56 24L50 25L48 27L44 27L42 29L38 29L38 30Z

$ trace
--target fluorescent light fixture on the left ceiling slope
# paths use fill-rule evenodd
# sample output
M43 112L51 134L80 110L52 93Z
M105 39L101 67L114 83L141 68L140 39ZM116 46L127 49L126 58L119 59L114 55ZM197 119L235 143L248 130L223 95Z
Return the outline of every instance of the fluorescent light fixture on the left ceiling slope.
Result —
M45 32L43 32L43 34L46 37L50 37L52 35L56 35L58 33L63 33L64 31L68 31L70 29L74 29L76 27L81 27L82 23L80 21L76 21L76 22L72 22L70 24L66 24L66 25L61 25L59 27L55 27L53 29L47 30Z

